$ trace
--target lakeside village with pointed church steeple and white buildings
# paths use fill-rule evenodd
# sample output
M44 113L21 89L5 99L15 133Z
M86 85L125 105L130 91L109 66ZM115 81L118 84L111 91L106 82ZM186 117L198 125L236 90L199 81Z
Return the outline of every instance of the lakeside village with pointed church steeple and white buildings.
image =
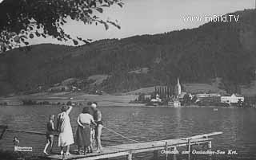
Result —
M254 97L242 96L238 93L182 91L179 78L174 87L156 86L152 94L140 94L134 103L168 107L255 107Z

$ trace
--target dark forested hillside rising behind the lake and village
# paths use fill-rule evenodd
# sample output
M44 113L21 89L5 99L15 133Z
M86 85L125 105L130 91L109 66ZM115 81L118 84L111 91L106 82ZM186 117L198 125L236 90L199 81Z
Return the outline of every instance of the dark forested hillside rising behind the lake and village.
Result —
M255 78L256 11L238 22L210 22L197 29L95 41L90 45L33 45L0 55L0 94L50 87L70 77L110 75L99 88L126 92L154 84L201 83L222 77L234 92ZM130 72L149 68L148 72Z

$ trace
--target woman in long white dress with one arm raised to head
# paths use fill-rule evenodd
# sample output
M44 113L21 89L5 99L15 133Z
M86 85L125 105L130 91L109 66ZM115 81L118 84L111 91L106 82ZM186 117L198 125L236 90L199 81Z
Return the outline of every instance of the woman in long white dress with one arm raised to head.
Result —
M70 145L74 143L72 127L70 124L70 111L72 106L62 106L61 113L58 114L57 129L58 146L61 147L61 154L64 154L64 146L66 146L66 155L70 155Z

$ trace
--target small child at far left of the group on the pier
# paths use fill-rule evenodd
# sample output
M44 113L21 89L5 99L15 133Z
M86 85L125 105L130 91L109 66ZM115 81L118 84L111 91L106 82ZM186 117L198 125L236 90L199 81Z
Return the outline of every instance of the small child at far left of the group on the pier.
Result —
M54 115L50 115L49 122L47 123L47 131L46 131L46 139L47 143L45 146L45 149L43 150L43 153L48 155L46 152L47 147L50 145L50 153L53 149L53 143L54 143Z

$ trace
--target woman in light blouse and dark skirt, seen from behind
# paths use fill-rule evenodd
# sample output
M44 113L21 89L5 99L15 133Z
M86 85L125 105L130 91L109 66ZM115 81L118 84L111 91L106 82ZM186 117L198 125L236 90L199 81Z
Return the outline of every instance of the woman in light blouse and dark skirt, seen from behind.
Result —
M86 149L90 146L90 125L94 124L94 117L89 114L89 107L84 107L80 115L78 115L78 129L76 132L76 144L78 145L78 154L80 154L81 147L84 147L84 154Z

